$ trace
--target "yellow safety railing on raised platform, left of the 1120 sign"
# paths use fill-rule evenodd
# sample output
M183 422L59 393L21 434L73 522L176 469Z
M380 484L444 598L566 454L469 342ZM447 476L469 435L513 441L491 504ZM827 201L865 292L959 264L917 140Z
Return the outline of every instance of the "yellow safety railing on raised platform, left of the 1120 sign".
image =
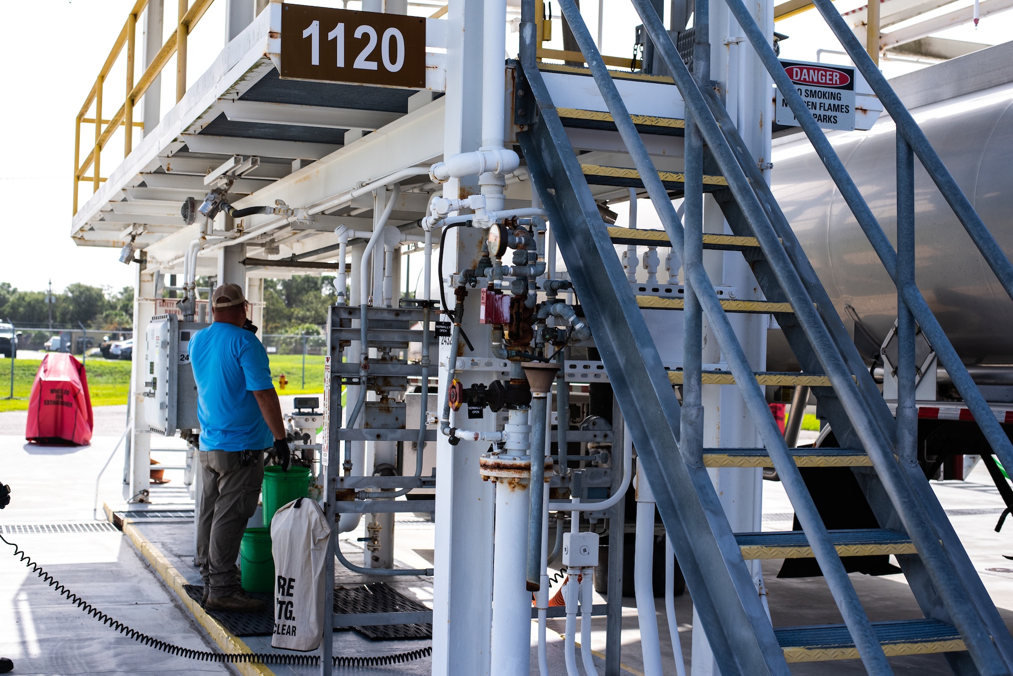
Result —
M81 111L77 113L74 119L74 214L77 214L78 184L81 181L90 181L93 186L92 192L95 192L98 190L99 184L105 180L101 177L102 150L121 126L125 128L124 157L130 155L131 150L134 148L134 128L144 128L144 122L134 121L134 107L137 105L138 100L148 91L148 88L154 84L158 76L161 75L162 69L165 68L165 64L168 63L173 55L176 55L176 102L178 103L179 99L186 93L186 36L192 32L193 27L214 1L194 0L193 4L190 4L190 0L177 0L178 19L176 21L176 29L165 40L165 44L162 45L158 54L155 55L155 58L144 70L141 78L136 83L134 82L134 65L137 55L137 21L141 12L147 7L148 0L137 0L134 7L130 10L123 29L112 44L109 56L98 71L95 84L91 87L91 91L88 92L88 95L84 99L84 104L81 106ZM112 71L112 67L123 54L125 46L127 48L127 82L124 103L111 117L105 119L102 117L104 103L102 99L105 81ZM94 115L86 117L85 115L88 114L92 104L95 106ZM81 160L82 123L93 124L95 130L94 144L83 161ZM87 176L85 173L89 168L91 169L91 175Z

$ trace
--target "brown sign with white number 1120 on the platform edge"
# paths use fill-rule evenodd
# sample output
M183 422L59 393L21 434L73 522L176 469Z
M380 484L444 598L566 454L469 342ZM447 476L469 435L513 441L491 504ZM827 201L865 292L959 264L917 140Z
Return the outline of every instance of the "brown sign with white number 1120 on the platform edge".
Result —
M283 78L425 87L425 19L282 5Z

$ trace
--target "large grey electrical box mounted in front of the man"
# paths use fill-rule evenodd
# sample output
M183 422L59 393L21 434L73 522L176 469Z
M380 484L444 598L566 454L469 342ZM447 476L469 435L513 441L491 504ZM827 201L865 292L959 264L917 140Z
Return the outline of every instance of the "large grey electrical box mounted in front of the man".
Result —
M144 418L152 432L173 436L176 430L201 428L197 418L197 383L189 362L189 341L209 326L157 315L145 332Z

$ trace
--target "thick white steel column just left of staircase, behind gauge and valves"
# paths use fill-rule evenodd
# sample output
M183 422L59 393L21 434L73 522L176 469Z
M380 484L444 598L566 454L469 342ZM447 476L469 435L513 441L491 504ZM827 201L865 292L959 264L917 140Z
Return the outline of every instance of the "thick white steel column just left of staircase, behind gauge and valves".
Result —
M482 52L482 9L481 2L450 0L444 157L478 150L481 144L481 117L475 101L481 95L482 71L481 61L475 55ZM445 197L458 198L477 191L476 184L462 185L456 179L444 184ZM444 275L462 265L470 267L473 264L481 250L481 235L466 228L455 228L447 233ZM434 274L434 278L438 276L439 273ZM438 283L446 282L446 276L438 280ZM448 289L447 295L448 304L453 306L453 289ZM478 324L476 292L466 299L464 320L462 327L472 343L488 345L488 326ZM450 357L449 341L449 338L441 338L437 411L443 408L447 397L445 376ZM461 342L461 349L465 350ZM486 372L459 373L464 387L476 382L488 383L489 377ZM464 419L462 416L462 423ZM468 420L467 428L494 429L494 416L486 411L482 420ZM478 475L478 458L487 445L461 441L452 446L446 437L438 435L437 474L440 479L436 493L433 581L434 676L485 676L489 673L495 498L492 484L483 482Z

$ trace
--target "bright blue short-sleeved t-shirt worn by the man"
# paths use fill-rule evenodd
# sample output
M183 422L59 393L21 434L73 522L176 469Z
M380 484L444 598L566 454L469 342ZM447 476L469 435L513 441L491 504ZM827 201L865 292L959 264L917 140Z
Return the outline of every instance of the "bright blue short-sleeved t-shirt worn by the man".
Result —
M267 352L256 336L215 322L189 342L201 450L269 448L275 441L253 392L271 390Z

